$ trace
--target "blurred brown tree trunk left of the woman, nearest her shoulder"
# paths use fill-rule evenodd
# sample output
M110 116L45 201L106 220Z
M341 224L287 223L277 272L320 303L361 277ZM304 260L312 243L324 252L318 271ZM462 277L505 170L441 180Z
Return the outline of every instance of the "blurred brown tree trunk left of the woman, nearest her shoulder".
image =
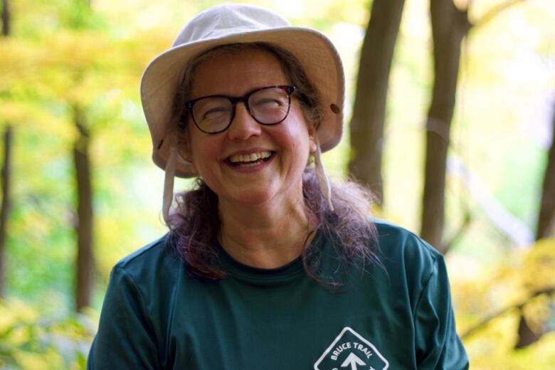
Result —
M73 147L73 160L78 193L75 306L80 312L84 307L90 306L90 297L93 292L93 191L90 179L90 137L85 126L85 116L80 107L75 105L73 110L75 126L79 134Z

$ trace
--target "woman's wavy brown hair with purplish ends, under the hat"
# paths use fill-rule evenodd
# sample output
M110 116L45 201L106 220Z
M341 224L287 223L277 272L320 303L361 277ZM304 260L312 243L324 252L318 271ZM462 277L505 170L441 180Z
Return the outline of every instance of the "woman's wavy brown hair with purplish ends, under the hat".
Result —
M171 125L179 147L188 145L189 112L185 109L185 102L190 98L196 68L208 58L245 50L266 51L275 56L289 82L297 87L295 98L300 101L307 122L317 125L322 117L319 95L295 56L268 43L218 46L194 58L184 70L174 100L174 122ZM309 164L302 178L302 193L310 225L315 225L312 232L322 233L331 240L336 255L345 266L364 270L366 263L379 263L375 253L376 228L368 219L372 203L369 191L354 182L332 182L332 211L320 191L314 168ZM199 178L194 189L176 194L176 203L177 207L169 217L169 241L183 258L189 273L210 280L225 278L227 273L221 268L216 248L220 232L217 194ZM337 282L322 276L317 248L305 243L302 263L306 273L314 280L325 285L337 285Z

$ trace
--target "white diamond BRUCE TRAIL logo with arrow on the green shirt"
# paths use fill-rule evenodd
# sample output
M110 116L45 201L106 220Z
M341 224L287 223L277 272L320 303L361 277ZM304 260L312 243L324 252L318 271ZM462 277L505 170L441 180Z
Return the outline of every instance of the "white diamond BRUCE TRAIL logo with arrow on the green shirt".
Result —
M344 327L314 364L314 370L387 370L389 362L361 334Z

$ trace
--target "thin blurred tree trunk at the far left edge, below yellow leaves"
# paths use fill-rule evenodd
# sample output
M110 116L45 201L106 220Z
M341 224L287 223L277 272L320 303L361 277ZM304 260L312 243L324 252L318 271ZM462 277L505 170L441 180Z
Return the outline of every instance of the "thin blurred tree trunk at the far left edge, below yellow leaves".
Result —
M0 298L6 293L6 233L11 208L11 126L4 132L4 165L2 166L2 201L0 208Z

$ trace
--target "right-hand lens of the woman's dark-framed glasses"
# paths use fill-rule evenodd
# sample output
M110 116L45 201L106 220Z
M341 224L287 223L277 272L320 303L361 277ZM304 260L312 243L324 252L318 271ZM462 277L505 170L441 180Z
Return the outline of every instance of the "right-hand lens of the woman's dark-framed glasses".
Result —
M250 95L248 106L258 122L273 125L287 117L289 95L281 88L265 88Z

